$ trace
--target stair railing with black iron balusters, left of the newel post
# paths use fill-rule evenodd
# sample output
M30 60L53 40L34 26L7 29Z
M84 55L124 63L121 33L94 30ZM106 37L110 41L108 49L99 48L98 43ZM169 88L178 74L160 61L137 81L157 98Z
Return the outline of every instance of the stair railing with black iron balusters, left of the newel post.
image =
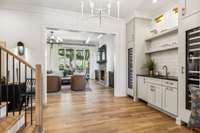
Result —
M24 69L22 65L24 65ZM22 74L23 72L24 75ZM14 116L16 111L19 114L24 111L25 126L27 125L27 112L29 110L30 123L31 125L33 124L34 72L35 69L23 58L0 45L0 105L2 102L6 103L6 116L9 113L12 113Z

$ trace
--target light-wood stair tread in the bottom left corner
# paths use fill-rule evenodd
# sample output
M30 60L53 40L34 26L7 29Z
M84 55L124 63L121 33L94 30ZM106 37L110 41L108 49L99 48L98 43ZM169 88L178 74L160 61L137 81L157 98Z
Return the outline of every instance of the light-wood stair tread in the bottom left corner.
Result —
M3 118L0 121L0 133L7 132L23 115L24 112L22 112L21 114L19 114L19 112L16 112L14 116L13 113L9 113L7 117Z

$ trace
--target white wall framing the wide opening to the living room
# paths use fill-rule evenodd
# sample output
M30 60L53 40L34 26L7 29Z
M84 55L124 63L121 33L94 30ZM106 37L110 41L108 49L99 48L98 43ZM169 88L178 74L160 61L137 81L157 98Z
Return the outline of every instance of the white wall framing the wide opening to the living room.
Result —
M125 96L125 23L122 20L103 19L98 27L98 19L81 19L79 13L44 7L12 5L0 2L0 40L6 41L8 48L14 48L22 41L30 49L31 64L42 64L43 80L46 82L47 46L46 28L63 28L81 31L114 33L116 48L114 55L115 96ZM119 65L121 64L121 65ZM46 83L43 86L46 99Z

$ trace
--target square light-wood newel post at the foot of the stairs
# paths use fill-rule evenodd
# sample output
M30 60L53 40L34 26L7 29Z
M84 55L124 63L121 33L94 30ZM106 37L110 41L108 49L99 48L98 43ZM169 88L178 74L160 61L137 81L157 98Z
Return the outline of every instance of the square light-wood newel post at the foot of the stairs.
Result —
M42 70L41 65L36 65L35 71L35 113L36 113L36 132L43 133L43 105L42 105Z

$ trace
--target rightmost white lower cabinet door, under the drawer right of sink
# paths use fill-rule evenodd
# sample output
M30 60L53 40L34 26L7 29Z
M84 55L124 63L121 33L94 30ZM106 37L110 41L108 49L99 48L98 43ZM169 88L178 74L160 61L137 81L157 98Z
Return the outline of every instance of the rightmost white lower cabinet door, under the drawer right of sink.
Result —
M163 109L173 115L178 111L178 93L177 88L163 87Z

